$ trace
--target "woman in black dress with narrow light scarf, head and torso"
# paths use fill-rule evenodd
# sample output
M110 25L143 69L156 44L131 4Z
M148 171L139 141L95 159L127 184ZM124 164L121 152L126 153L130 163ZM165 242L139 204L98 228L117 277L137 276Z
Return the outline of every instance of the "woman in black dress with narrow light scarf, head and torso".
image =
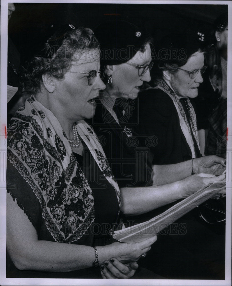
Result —
M168 52L159 61L162 77L156 79L154 88L139 95L139 124L135 130L157 136L153 164L176 164L201 157L196 116L189 99L197 96L206 66L195 37L186 39L177 34L163 39L161 47ZM172 56L172 49L178 54Z

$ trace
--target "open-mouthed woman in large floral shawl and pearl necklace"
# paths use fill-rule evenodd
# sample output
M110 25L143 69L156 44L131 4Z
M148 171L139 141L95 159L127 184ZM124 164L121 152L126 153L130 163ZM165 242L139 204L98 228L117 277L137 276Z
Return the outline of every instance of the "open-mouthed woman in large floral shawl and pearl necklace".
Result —
M31 97L8 126L8 277L129 278L156 240L110 240L120 191L83 120L105 89L100 75L99 42L90 29L71 24L23 73Z

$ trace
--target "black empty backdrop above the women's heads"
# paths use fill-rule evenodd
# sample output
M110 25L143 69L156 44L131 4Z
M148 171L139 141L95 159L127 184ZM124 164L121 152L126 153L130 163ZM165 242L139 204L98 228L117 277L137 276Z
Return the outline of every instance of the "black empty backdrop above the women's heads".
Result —
M155 39L192 27L209 38L213 21L228 11L227 5L212 4L15 3L15 8L8 33L21 54L21 62L37 53L55 29L65 23L94 29L106 20L123 19L145 26Z

